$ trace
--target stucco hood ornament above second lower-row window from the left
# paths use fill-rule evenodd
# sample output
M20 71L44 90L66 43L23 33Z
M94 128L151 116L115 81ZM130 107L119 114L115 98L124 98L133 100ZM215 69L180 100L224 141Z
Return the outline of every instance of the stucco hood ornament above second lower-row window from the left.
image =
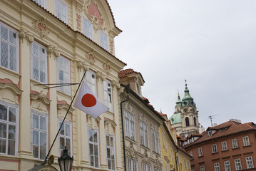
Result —
M49 105L51 103L51 100L48 100L45 94L43 94L43 91L40 93L31 93L30 99L32 101L32 106L38 110L44 110L46 111L46 107L43 107L43 105Z

